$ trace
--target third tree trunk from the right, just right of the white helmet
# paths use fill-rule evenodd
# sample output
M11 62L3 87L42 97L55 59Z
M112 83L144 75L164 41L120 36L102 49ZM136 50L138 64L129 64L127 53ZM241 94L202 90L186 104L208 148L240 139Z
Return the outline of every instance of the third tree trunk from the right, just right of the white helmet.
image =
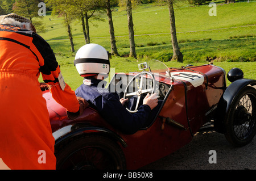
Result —
M113 55L120 56L117 52L117 45L115 44L115 33L114 33L114 25L112 20L112 11L110 9L110 0L106 0L106 10L109 19L109 33L110 33L110 44L111 44L111 53Z

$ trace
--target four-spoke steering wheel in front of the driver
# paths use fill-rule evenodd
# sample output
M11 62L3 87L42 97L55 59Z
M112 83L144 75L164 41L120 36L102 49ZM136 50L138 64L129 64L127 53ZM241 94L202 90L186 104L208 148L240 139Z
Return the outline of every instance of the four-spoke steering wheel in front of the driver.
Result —
M152 87L150 89L144 89L143 90L143 76L144 75L149 75L149 77L151 78L152 81ZM131 93L127 93L128 87L134 82L135 79L137 79L138 77L141 77L140 79L140 83L139 83L139 90L135 91L135 92L131 92ZM146 87L146 86L145 86ZM137 75L135 75L133 77L133 79L131 79L131 81L128 83L128 85L126 86L125 89L125 93L123 94L123 100L126 99L127 96L133 96L133 95L138 95L137 98L137 103L136 103L136 107L135 110L130 110L129 108L126 107L126 110L128 110L131 113L135 113L138 111L138 106L139 106L139 100L141 99L141 95L147 92L151 92L151 95L154 94L155 92L155 87L156 87L156 81L155 81L155 77L152 73L148 72L148 71L142 71L141 73L138 73Z

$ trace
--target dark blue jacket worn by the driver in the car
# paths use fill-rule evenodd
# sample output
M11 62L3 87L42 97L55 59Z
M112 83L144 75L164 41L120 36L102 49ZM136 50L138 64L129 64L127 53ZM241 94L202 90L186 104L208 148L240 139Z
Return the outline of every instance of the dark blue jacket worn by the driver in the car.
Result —
M133 134L140 128L146 127L151 109L148 105L141 105L136 113L130 113L122 106L116 92L109 92L103 87L98 87L98 79L86 79L88 83L76 89L76 95L81 96L96 107L96 110L113 127L125 134ZM105 82L105 81L104 81ZM105 85L105 83L100 85Z

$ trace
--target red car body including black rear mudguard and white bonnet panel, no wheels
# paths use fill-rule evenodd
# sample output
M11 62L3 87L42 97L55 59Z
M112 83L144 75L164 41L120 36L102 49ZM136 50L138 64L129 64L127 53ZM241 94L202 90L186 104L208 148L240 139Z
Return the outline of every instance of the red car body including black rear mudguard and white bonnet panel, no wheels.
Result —
M81 134L102 134L121 148L126 162L124 169L139 169L188 144L193 135L212 120L218 123L214 125L216 130L222 132L222 122L229 110L226 102L231 103L238 94L229 94L232 98L225 100L227 87L224 69L209 64L169 70L174 79L162 76L166 72L155 75L159 91L163 95L159 115L149 127L134 134L123 134L113 128L91 107L87 107L77 119L69 120L65 108L53 100L49 91L44 91L56 145ZM131 73L129 76L136 74ZM196 82L195 79L201 81ZM242 87L256 85L254 80L243 79L241 82ZM236 88L237 91L242 87ZM220 102L224 103L220 105Z

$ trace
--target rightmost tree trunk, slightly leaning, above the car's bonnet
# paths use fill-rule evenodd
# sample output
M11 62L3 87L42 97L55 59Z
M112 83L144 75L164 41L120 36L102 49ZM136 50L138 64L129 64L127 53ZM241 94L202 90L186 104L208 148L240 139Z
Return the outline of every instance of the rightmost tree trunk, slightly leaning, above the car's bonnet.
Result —
M174 6L173 6L172 1L173 0L168 0L168 8L169 8L170 24L171 24L172 49L174 51L174 55L172 56L172 60L178 61L178 62L183 62L183 54L180 52L180 48L179 48L179 45L177 43Z

